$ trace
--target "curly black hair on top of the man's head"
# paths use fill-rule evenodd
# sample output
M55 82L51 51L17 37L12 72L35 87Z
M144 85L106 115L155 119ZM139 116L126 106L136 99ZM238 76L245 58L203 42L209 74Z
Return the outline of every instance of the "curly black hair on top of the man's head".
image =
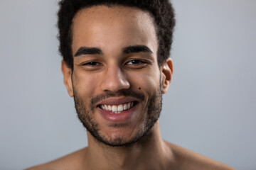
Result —
M68 67L73 69L72 30L73 17L82 8L91 6L129 6L148 11L154 18L158 38L157 61L159 67L169 57L173 38L174 8L168 0L61 0L58 11L59 51Z

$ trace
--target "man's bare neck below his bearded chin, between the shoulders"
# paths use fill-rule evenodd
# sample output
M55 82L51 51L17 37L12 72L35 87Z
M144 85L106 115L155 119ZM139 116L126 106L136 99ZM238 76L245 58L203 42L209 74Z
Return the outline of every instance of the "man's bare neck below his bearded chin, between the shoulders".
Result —
M95 169L164 169L171 151L161 139L159 121L141 140L124 147L110 147L95 141L87 132L87 160Z

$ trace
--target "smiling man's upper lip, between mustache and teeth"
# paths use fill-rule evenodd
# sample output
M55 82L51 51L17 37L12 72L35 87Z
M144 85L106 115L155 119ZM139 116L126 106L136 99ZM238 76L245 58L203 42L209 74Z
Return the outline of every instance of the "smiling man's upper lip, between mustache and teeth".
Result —
M137 101L135 98L131 97L114 97L114 98L107 98L104 101L100 101L97 103L97 106L99 105L119 105L124 103L129 103L132 101Z

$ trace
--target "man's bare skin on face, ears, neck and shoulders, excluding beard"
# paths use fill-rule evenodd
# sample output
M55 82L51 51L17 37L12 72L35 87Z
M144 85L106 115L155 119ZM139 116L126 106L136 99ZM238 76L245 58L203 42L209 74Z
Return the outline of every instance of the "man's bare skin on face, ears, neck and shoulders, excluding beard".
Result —
M131 45L146 45L152 53L124 55L122 49ZM124 128L110 126L97 110L89 113L107 139L131 140L142 128L149 98L158 88L162 94L166 93L173 73L171 59L158 67L153 19L145 11L123 6L82 9L73 18L73 55L80 47L98 47L102 55L74 57L73 72L62 62L64 84L71 97L75 88L89 107L93 96L107 91L117 93L131 89L146 96L144 101L139 101L136 114L127 120ZM131 60L143 60L148 64L131 64ZM90 61L98 64L84 64ZM87 139L88 147L31 169L232 169L162 140L158 120L142 140L128 147L110 147L97 141L90 132L87 132Z

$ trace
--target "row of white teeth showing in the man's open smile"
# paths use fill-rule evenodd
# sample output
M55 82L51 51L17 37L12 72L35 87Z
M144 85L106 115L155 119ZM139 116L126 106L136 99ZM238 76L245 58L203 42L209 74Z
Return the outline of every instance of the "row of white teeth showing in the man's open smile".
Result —
M105 111L111 111L112 113L119 114L119 113L122 113L123 111L129 110L130 108L134 107L136 104L137 104L136 101L119 104L119 105L101 104L100 108Z

